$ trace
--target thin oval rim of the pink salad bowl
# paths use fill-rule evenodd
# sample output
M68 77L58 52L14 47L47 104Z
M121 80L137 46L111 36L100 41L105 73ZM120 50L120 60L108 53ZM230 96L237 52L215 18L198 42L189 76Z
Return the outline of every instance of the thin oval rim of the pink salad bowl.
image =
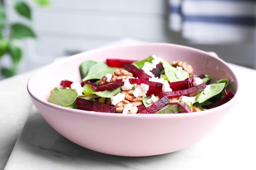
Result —
M215 108L209 109L209 110L203 110L203 113L202 112L190 112L190 113L177 113L177 114L170 113L170 114L157 114L157 115L156 114L121 114L121 113L114 113L114 112L95 112L95 111L89 111L89 110L70 109L67 107L61 107L58 105L54 105L53 103L49 103L49 101L46 101L44 99L37 98L33 94L32 90L30 90L30 84L33 81L33 78L35 76L37 76L37 74L43 72L45 69L54 67L55 65L60 65L62 62L67 62L69 60L79 58L80 56L84 56L85 54L89 55L89 54L94 54L94 53L104 51L104 50L112 50L115 48L135 47L135 46L173 46L173 47L177 46L179 48L187 48L187 49L193 50L195 52L200 52L202 54L205 54L206 56L209 56L210 58L215 58L215 59L219 60L234 75L233 79L234 79L234 82L236 82L236 92L234 93L234 97L230 101L228 101L227 103L224 103L223 105L221 105L219 107L215 107ZM46 65L45 67L42 67L41 69L39 69L39 71L36 71L35 73L33 73L33 75L29 78L26 88L28 90L28 93L30 94L30 97L32 97L39 103L41 103L43 105L47 105L47 107L51 107L53 109L62 110L64 112L68 112L71 114L81 114L81 115L89 115L89 116L114 116L114 117L120 117L120 118L126 118L126 117L128 117L128 118L170 118L170 117L171 118L183 118L184 116L190 117L190 116L202 116L202 115L212 114L212 113L215 114L215 112L223 110L224 107L228 107L228 106L232 105L232 103L237 101L238 96L240 94L240 83L238 82L238 78L234 74L234 71L227 65L227 63L225 61L223 61L223 59L216 57L216 56L212 56L212 55L208 54L207 52L205 52L203 50L199 50L197 48L192 48L190 46L184 46L184 45L180 45L180 44L173 44L173 43L167 43L167 42L142 42L140 44L128 44L128 45L126 44L126 45L119 45L119 46L103 47L103 48L96 48L93 50L89 50L86 52L81 52L79 54L75 54L73 56L61 59L60 61L56 61L54 63L50 63L49 65Z

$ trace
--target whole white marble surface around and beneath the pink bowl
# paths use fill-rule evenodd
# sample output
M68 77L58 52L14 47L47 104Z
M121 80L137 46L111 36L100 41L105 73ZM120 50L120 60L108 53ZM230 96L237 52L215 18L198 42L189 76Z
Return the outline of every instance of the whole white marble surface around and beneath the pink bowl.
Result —
M142 158L94 152L54 131L35 110L26 91L26 82L35 71L2 80L0 169L256 169L256 71L230 67L242 91L233 112L199 143L178 152Z

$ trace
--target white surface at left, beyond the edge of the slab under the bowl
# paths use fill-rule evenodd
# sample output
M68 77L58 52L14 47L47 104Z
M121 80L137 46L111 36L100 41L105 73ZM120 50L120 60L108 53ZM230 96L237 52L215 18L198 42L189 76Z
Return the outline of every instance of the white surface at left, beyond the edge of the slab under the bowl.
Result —
M0 81L0 169L5 167L32 109L26 85L35 71Z

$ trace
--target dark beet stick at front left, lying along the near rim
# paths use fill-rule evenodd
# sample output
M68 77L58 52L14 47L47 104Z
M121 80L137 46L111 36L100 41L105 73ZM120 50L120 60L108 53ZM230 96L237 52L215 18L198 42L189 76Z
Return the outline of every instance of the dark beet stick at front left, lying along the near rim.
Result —
M107 105L104 103L98 103L96 101L90 101L87 99L81 99L77 97L76 107L81 110L89 110L95 112L116 112L116 107L114 105Z

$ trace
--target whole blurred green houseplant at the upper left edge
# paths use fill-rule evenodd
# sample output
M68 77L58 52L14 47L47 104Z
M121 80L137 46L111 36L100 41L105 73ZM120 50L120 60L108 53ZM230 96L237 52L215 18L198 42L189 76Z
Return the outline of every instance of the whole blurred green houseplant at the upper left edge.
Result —
M32 0L33 3L40 7L50 6L49 0ZM12 3L12 7L22 18L26 18L31 22L32 10L28 1L16 0ZM4 55L8 55L12 59L11 67L1 67L0 74L9 77L16 75L18 63L22 59L22 46L16 44L16 40L32 38L35 39L36 35L30 25L22 24L22 22L9 22L7 20L7 12L3 2L0 3L0 59Z

